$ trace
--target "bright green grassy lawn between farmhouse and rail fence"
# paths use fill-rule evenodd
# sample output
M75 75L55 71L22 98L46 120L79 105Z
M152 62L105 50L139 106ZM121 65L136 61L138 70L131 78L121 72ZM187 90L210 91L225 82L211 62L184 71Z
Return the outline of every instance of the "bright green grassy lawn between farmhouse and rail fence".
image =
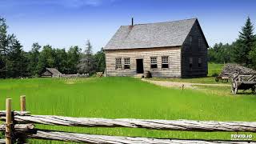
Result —
M54 114L90 118L192 119L215 121L256 121L256 98L246 95L205 93L200 90L170 89L136 78L8 79L0 80L0 107L13 98L19 110L19 96L26 94L32 114ZM225 95L225 96L224 96ZM108 134L149 138L230 139L224 132L180 132L130 128L78 128L42 126L86 134ZM245 133L240 133L245 134ZM254 140L256 134L253 134ZM32 143L53 143L30 141ZM58 142L56 142L58 143Z

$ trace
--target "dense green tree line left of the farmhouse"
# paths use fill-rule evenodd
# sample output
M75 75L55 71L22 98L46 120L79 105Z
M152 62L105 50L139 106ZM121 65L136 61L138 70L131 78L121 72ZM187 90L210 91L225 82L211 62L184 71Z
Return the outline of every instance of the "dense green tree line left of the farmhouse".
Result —
M86 41L85 51L79 46L65 50L35 42L26 52L7 29L6 20L0 17L0 78L38 77L46 67L56 68L62 74L94 74L105 69L103 50L93 54L90 40Z

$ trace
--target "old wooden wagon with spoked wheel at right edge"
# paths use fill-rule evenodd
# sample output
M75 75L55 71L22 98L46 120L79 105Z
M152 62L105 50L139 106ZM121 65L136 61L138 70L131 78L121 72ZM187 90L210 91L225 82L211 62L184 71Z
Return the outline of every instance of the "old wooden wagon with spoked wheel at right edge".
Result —
M231 91L237 94L238 90L252 90L255 92L256 74L233 74Z

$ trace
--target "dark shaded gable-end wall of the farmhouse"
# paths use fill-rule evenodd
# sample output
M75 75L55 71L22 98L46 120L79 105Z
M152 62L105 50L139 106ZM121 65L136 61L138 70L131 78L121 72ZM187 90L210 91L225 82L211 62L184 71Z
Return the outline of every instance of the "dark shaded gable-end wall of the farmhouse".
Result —
M192 36L191 45L190 36ZM202 39L200 47L198 38ZM190 58L193 58L192 69L190 69ZM198 66L198 58L202 59L201 67ZM199 23L196 21L182 46L182 78L205 77L207 73L207 44Z

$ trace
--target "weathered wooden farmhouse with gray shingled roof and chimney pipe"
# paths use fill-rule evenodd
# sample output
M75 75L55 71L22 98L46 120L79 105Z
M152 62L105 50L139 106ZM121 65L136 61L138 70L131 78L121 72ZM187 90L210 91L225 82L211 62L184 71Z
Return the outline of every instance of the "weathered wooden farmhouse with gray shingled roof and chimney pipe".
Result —
M104 47L106 76L205 77L208 44L197 18L120 26Z

